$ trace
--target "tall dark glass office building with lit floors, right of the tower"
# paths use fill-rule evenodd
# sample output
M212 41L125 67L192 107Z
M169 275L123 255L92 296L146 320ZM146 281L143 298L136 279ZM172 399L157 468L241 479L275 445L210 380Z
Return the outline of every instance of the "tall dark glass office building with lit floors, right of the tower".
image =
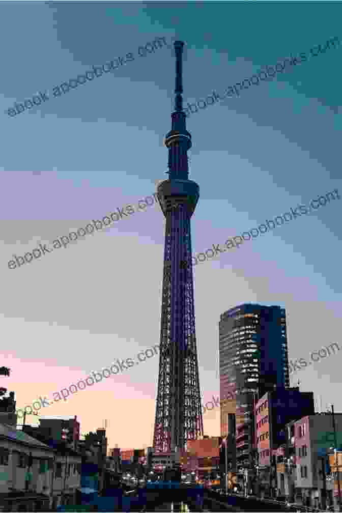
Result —
M252 464L258 397L290 386L285 309L243 304L223 313L219 366L221 436L235 435L236 466L241 469Z

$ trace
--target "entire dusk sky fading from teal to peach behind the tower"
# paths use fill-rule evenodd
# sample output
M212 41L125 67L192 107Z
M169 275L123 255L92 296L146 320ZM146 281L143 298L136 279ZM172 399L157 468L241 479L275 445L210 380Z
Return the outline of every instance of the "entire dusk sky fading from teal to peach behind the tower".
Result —
M342 41L340 3L2 4L1 365L18 406L69 386L116 358L159 343L163 215L157 206L19 269L23 255L155 191L166 177L173 41L185 47L184 98L251 77L329 38ZM167 46L139 57L139 46ZM342 45L207 107L187 120L190 178L200 187L195 253L335 188L340 169ZM39 107L6 110L37 91L124 57L135 60ZM290 358L338 342L341 202L278 227L195 268L200 387L218 394L218 321L244 302L280 304ZM342 351L298 373L302 390L342 411ZM78 392L49 415L109 420L110 445L151 442L158 358ZM297 378L296 378L297 380ZM83 397L83 399L82 399ZM89 405L91 404L91 408ZM119 415L118 415L118 412ZM28 417L28 421L32 418ZM139 429L137 432L137 422ZM219 412L205 416L219 435Z

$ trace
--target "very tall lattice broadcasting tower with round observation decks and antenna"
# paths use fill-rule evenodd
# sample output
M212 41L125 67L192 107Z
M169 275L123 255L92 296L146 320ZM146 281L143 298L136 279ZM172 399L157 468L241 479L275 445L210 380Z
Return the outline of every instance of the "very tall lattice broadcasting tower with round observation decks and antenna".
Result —
M198 185L189 180L191 134L183 112L182 53L176 53L175 110L172 130L166 135L169 179L157 187L166 218L160 359L153 447L155 451L183 449L187 440L203 436L195 336L190 218L198 198Z

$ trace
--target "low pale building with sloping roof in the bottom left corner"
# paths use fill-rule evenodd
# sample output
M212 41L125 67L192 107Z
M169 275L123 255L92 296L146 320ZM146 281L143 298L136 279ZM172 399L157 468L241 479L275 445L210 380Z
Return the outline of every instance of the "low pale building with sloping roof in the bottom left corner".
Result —
M64 445L65 447L65 445ZM0 511L47 511L74 505L81 455L62 452L0 424Z

